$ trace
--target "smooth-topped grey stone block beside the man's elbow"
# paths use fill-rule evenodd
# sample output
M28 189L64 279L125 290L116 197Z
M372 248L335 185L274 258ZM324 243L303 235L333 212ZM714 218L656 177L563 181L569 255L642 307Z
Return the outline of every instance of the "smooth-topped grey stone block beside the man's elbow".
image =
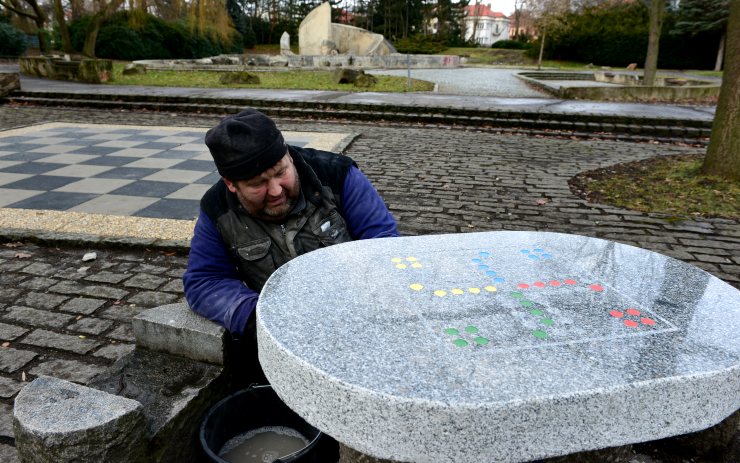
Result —
M226 330L185 303L145 310L134 317L133 329L139 347L223 365Z

